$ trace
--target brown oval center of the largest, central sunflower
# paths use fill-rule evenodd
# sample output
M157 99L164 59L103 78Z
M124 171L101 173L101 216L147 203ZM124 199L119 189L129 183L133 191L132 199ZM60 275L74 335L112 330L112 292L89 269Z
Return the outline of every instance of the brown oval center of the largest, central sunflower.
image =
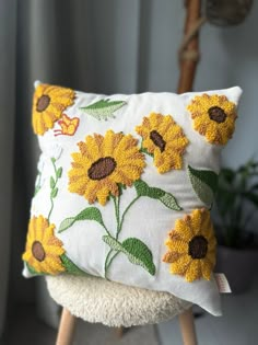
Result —
M91 180L103 180L109 176L116 169L117 163L112 157L99 158L97 161L92 163L87 171L87 176Z

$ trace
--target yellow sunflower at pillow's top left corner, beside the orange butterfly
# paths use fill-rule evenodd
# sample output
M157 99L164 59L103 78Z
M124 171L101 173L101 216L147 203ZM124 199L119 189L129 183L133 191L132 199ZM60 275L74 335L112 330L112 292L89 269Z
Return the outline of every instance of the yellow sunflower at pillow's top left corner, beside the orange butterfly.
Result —
M75 93L71 89L39 84L33 99L33 129L37 135L44 135L54 127L62 112L73 104Z

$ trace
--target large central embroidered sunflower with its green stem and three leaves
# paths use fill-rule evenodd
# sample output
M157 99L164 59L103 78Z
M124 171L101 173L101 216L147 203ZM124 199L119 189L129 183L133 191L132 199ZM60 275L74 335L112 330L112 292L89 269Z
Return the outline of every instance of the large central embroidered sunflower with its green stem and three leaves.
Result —
M176 198L161 188L148 185L140 180L145 166L144 154L137 147L138 140L131 135L115 134L108 130L105 136L95 134L87 136L85 142L79 142L80 152L72 153L72 169L69 171L69 191L84 196L89 204L98 202L105 206L108 198L114 203L116 230L108 229L101 210L91 206L61 221L58 232L66 231L77 221L96 221L105 231L103 241L109 246L104 263L104 276L115 257L122 253L134 265L143 267L149 274L155 275L152 252L140 239L119 240L125 219L132 206L141 198L149 197L161 202L165 207L180 210ZM126 187L134 187L136 196L121 210L120 199ZM115 233L114 233L115 232Z

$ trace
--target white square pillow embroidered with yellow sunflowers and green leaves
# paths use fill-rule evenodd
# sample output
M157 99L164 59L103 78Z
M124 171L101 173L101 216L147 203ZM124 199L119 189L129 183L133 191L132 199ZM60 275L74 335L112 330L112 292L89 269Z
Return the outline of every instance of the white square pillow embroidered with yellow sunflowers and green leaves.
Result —
M101 276L220 315L209 210L241 93L106 96L37 83L24 276Z

